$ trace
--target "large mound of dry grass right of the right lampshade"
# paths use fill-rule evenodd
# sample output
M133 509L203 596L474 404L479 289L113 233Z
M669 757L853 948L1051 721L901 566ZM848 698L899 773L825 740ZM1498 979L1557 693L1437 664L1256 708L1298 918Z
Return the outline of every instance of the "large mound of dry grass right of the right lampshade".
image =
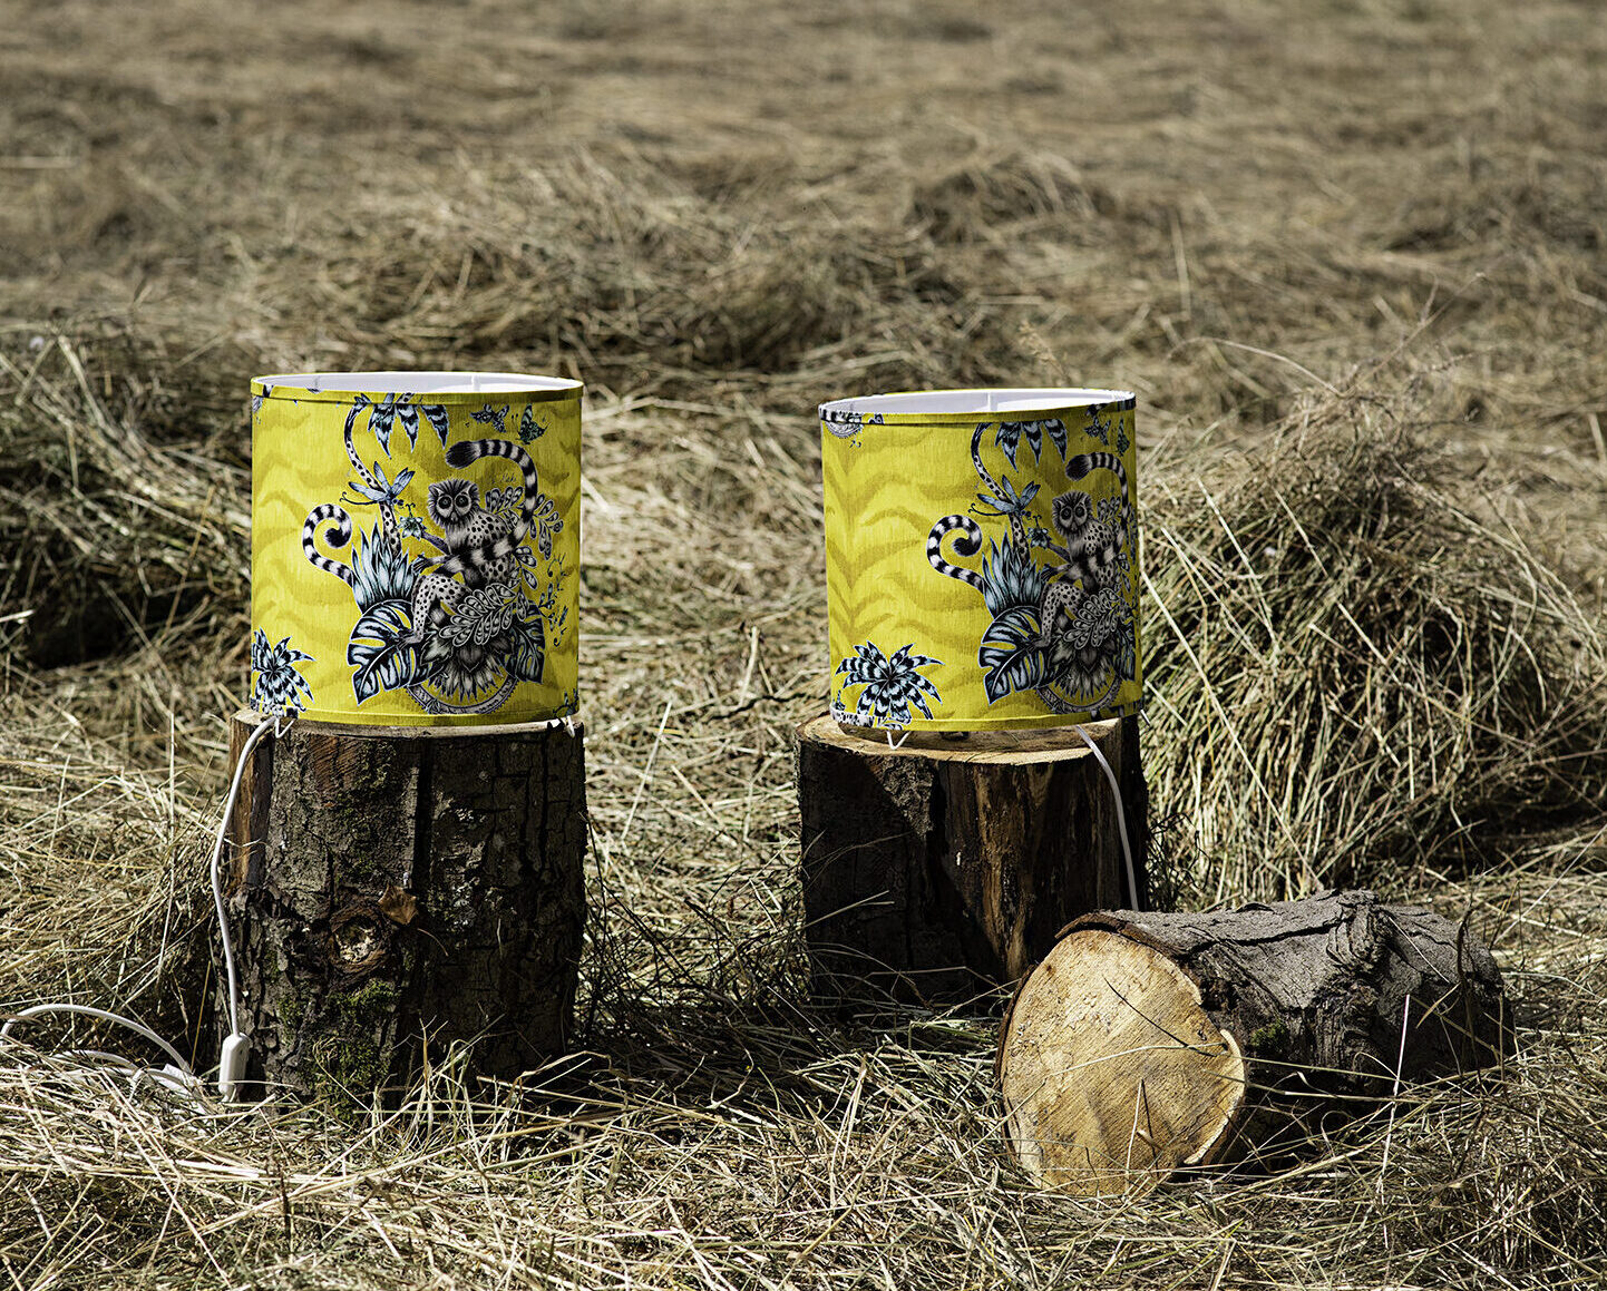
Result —
M1607 644L1422 390L1323 393L1149 493L1157 803L1208 902L1488 856L1607 792Z

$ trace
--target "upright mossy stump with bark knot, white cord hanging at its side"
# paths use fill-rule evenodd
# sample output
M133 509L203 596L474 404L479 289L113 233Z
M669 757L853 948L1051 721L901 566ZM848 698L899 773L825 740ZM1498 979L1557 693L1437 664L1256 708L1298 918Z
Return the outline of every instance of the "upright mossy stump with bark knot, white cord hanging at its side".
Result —
M235 716L231 760L257 721ZM579 727L299 721L260 740L227 890L247 1082L366 1098L453 1041L503 1077L561 1053L585 840Z

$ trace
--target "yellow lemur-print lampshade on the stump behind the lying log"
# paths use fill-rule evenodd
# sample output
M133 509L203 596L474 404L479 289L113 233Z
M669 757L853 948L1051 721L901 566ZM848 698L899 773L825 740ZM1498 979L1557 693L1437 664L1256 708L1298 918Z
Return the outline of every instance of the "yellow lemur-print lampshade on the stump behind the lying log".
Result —
M821 405L839 723L1008 731L1139 708L1133 413L1123 390Z

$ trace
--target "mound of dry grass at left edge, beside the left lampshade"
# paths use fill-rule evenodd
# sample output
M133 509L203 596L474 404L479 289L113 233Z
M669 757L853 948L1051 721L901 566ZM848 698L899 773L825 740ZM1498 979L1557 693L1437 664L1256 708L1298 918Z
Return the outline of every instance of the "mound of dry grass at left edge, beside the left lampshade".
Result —
M161 356L108 324L0 336L6 660L101 660L238 613L246 474L231 445L175 424Z

